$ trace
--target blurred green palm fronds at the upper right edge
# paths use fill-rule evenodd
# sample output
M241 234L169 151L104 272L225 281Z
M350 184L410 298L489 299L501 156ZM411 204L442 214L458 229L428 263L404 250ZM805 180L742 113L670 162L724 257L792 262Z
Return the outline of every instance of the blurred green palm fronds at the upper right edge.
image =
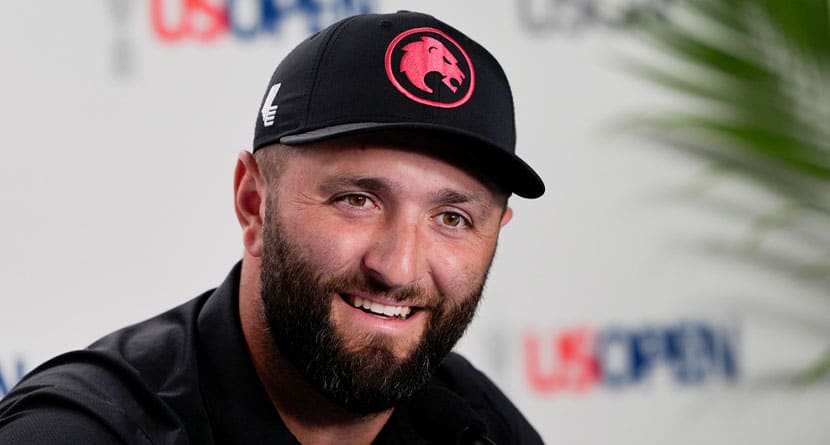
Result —
M771 229L820 221L802 238L805 252L821 254L805 254L789 269L830 295L830 0L672 5L631 26L671 66L629 60L626 68L687 100L683 110L632 122L662 145L710 160L779 198L781 208L749 221L750 255L763 254L757 247ZM800 381L827 375L830 350Z

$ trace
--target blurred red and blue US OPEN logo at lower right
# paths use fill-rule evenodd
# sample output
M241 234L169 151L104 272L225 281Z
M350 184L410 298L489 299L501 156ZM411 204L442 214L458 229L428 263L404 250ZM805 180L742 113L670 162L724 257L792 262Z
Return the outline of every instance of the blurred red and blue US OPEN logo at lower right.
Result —
M736 331L704 321L528 331L522 336L524 377L540 394L638 386L658 374L681 386L729 383L739 374Z

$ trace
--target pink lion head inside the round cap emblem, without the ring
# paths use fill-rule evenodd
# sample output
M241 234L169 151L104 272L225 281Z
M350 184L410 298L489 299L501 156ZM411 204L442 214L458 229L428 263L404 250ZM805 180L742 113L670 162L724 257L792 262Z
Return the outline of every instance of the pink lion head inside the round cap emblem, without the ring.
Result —
M458 67L458 60L443 43L429 36L404 46L401 58L401 72L421 91L432 93L432 88L424 82L428 73L437 72L442 76L442 83L453 93L466 77Z

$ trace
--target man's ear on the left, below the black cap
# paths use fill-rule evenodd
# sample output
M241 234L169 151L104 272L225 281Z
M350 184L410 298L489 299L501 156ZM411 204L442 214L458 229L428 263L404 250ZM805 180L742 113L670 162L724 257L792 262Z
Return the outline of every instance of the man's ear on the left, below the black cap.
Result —
M253 256L262 255L262 225L268 186L259 172L256 158L250 152L239 153L233 176L233 197L236 219L242 227L242 244Z

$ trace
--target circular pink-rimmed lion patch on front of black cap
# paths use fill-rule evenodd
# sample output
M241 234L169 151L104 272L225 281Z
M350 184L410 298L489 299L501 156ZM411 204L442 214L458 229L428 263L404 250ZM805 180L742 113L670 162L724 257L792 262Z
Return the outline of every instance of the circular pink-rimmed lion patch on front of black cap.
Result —
M455 108L475 88L467 52L435 28L400 33L386 48L386 75L404 96L424 105Z

